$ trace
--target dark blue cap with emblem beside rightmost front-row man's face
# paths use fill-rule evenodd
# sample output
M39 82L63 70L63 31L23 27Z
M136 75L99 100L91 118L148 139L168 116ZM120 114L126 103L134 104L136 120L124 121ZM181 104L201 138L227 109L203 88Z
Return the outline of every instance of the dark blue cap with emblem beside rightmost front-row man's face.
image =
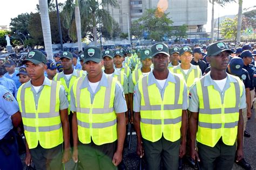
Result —
M241 76L242 67L244 67L244 61L239 57L233 57L230 60L230 71L232 74L237 76Z

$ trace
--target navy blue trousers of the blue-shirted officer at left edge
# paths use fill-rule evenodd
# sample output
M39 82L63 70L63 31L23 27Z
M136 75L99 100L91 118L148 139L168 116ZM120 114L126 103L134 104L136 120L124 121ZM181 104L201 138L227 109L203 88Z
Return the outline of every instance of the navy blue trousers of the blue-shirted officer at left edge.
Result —
M0 140L0 169L20 170L23 169L22 161L18 154L18 145L14 131L10 130Z

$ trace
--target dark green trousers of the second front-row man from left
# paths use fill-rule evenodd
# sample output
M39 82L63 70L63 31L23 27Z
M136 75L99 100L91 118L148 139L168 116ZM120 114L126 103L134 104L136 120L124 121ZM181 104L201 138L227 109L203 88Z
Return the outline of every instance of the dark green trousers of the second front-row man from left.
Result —
M117 141L103 145L96 145L93 142L90 144L82 144L79 142L79 169L117 169L112 163L116 149Z

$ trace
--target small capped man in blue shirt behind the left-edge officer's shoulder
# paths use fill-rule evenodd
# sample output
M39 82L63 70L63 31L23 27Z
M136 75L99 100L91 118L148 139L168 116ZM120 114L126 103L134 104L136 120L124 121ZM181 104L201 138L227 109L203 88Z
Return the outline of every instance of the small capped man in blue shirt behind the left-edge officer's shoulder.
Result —
M18 70L15 70L14 61L9 59L5 62L4 66L5 66L5 70L7 71L4 74L4 77L14 80L17 89L19 89L19 86L21 86L21 83L19 82L19 78L16 76L16 74L18 74Z

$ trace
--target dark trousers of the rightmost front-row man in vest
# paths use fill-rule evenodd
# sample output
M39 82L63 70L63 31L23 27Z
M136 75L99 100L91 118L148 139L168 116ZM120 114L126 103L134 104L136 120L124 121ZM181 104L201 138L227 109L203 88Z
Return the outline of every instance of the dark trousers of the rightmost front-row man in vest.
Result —
M201 169L232 169L235 159L236 145L225 145L220 139L214 147L197 143L198 154L200 157Z

